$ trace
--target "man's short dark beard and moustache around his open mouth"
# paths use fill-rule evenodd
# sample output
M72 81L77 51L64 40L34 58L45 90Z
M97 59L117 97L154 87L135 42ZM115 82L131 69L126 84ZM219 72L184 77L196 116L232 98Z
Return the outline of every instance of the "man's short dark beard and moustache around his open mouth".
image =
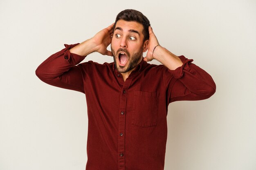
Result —
M117 54L120 52L120 51L123 51L125 52L128 56L128 61L126 63L125 66L119 66L117 67ZM126 50L126 49L118 49L117 52L114 51L114 49L112 49L112 46L111 46L111 52L112 52L112 55L113 55L113 58L114 58L114 63L115 63L115 67L117 68L117 71L119 73L126 73L130 70L132 70L133 68L135 68L137 65L138 65L138 62L139 60L141 59L142 55L143 55L143 46L141 46L141 49L139 49L139 51L137 53L133 53L132 56L130 56L130 53Z

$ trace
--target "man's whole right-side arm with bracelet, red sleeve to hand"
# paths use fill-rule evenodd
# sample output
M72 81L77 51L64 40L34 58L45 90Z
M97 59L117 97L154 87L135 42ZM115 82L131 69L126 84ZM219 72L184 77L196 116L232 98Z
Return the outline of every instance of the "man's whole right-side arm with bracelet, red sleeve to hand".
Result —
M186 57L177 57L159 43L153 30L149 27L148 53L145 61L158 60L166 71L164 76L168 103L180 100L202 100L211 97L216 91L216 84L211 75L191 63ZM156 47L155 47L156 46ZM154 50L155 49L155 50Z

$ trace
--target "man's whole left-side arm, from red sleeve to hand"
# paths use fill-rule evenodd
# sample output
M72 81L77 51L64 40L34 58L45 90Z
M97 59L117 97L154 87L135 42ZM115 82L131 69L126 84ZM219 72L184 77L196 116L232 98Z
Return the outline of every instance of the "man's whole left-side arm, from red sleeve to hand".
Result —
M53 86L85 93L79 63L83 61L86 55L92 52L112 55L107 50L107 47L111 43L113 25L111 24L107 28L99 31L93 38L81 44L65 44L65 49L51 55L38 66L36 69L38 78Z

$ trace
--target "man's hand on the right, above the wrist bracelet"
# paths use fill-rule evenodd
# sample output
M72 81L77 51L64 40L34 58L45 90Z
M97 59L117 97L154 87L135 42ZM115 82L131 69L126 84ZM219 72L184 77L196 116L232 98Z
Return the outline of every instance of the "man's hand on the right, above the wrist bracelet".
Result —
M154 59L152 56L153 50L154 50L155 46L157 46L159 44L157 37L153 33L153 29L151 26L148 27L148 32L149 32L148 52L147 52L146 57L144 57L144 59L143 59L146 62L150 62ZM158 48L158 46L157 46L157 48Z

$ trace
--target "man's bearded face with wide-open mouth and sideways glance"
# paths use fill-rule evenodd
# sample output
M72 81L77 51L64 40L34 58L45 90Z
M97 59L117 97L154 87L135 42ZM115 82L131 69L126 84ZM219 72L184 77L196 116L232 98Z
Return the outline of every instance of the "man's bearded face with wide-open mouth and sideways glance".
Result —
M120 73L131 71L141 62L148 40L143 42L143 25L135 21L118 20L111 42L115 66Z

